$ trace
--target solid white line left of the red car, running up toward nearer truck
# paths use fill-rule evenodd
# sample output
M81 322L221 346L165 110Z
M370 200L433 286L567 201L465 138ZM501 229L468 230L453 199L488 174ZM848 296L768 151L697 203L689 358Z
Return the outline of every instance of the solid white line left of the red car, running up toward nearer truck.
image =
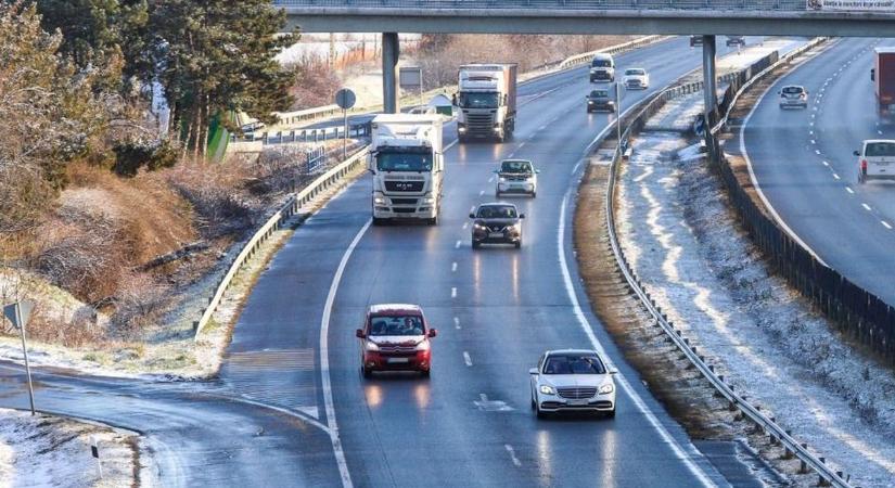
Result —
M351 475L348 473L348 463L345 461L345 452L342 450L342 439L338 437L338 424L335 422L335 406L333 404L332 382L330 380L330 316L332 314L333 304L335 303L335 294L338 292L338 284L342 281L342 274L345 273L345 267L348 266L348 259L355 252L357 244L373 219L367 220L367 223L355 235L354 241L345 249L342 256L342 261L333 275L333 282L330 285L330 293L327 295L327 303L323 306L323 318L320 319L320 382L323 388L323 403L327 410L327 426L330 428L330 441L333 445L333 453L335 454L335 462L338 465L338 474L342 476L343 488L350 488Z

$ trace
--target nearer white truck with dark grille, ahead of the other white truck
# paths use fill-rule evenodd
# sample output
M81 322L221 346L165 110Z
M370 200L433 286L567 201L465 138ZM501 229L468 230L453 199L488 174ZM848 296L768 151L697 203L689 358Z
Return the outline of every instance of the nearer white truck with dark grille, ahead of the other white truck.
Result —
M378 115L372 132L373 223L425 219L436 224L444 180L442 116Z

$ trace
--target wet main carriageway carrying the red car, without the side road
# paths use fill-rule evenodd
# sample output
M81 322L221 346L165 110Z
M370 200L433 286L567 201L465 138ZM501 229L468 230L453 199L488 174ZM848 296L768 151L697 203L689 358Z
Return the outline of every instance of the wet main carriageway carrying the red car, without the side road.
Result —
M696 68L700 54L676 39L621 55L618 65L647 67L655 90ZM452 145L437 227L369 227L370 179L362 178L299 228L259 279L230 354L317 355L319 378L271 368L263 382L291 385L282 404L338 433L332 444L343 479L726 484L624 363L579 287L568 226L574 188L586 149L610 120L585 113L589 88L584 68L526 84L513 141ZM491 170L510 156L542 170L537 200L513 198L528 216L523 248L474 253L466 215L494 200ZM360 376L354 330L368 305L384 301L421 304L439 330L431 380ZM536 421L527 371L538 355L597 344L624 377L616 419ZM227 369L221 378L231 381Z

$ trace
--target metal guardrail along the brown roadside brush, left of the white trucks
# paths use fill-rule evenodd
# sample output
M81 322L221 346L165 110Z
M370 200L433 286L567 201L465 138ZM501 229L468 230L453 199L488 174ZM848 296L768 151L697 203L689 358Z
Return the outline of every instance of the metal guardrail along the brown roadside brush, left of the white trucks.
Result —
M223 278L221 278L220 282L218 282L218 285L215 288L215 294L208 298L208 306L205 307L205 310L202 312L202 317L197 321L193 322L193 329L195 330L194 341L199 341L199 335L208 324L208 321L212 319L215 310L217 310L218 305L220 305L220 300L223 298L223 294L227 292L227 288L230 286L233 278L243 265L245 265L245 262L255 255L261 244L273 235L273 232L280 229L286 219L295 215L295 213L297 213L303 206L314 200L322 191L334 184L342 183L343 180L349 176L361 172L367 167L367 153L368 151L363 149L318 177L302 191L296 193L294 196L291 196L286 203L283 204L283 206L281 206L280 209L277 210L277 213L273 214L267 222L265 222L265 224L252 235L252 239L245 243L239 255L233 258L233 261L227 269L227 273Z

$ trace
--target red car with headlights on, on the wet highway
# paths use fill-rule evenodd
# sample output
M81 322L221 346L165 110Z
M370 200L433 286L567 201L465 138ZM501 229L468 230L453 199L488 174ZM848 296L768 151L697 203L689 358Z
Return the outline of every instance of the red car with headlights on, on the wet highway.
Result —
M438 331L430 329L418 305L373 305L367 310L363 329L356 332L360 339L360 369L363 377L373 371L419 371L429 377L432 368L432 337Z

